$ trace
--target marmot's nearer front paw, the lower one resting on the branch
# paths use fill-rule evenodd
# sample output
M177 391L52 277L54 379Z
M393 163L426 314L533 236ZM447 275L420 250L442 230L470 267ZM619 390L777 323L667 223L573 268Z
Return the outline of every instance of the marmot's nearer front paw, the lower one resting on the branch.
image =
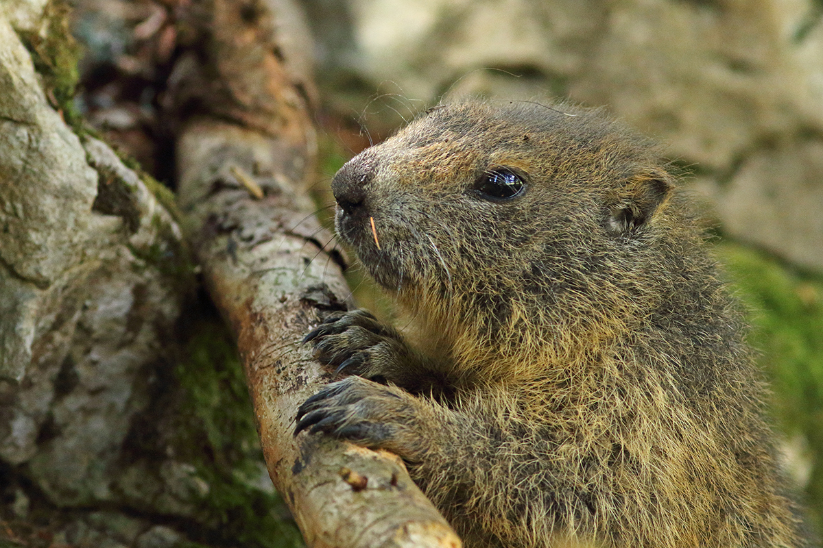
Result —
M388 449L420 462L425 442L419 428L421 403L394 386L356 376L320 389L297 411L295 435L325 432L371 449Z

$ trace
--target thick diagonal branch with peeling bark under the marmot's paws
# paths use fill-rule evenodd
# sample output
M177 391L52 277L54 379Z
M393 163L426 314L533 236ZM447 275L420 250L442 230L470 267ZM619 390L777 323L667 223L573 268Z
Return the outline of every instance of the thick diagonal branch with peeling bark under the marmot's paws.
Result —
M331 379L300 339L350 292L306 195L310 93L281 65L261 8L216 0L206 10L213 19L196 26L212 58L185 58L175 99L206 111L179 132L179 200L208 291L238 338L269 473L309 546L461 546L398 458L292 436L297 407Z

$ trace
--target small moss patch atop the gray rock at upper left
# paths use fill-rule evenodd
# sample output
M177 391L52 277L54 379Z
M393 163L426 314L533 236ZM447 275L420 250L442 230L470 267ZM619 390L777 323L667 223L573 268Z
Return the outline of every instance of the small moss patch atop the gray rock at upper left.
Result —
M82 117L74 106L74 94L80 81L77 62L82 48L69 29L71 10L67 0L49 0L43 11L41 31L23 32L21 39L31 53L35 70L42 76L46 97L63 114L63 120L80 134Z

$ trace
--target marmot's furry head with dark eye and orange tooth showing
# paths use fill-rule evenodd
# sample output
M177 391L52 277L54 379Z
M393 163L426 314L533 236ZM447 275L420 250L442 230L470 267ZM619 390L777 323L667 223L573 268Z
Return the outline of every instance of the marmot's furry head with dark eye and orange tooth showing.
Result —
M443 105L337 173L337 232L449 340L569 349L613 336L666 291L661 249L686 223L668 212L665 165L598 111Z

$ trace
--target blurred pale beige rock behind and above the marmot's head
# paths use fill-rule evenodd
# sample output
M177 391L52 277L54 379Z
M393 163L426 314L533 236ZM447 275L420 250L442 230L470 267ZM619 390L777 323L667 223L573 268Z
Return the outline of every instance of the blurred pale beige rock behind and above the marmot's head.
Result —
M823 270L821 2L305 5L323 99L370 129L463 94L606 105L669 145L725 234Z

